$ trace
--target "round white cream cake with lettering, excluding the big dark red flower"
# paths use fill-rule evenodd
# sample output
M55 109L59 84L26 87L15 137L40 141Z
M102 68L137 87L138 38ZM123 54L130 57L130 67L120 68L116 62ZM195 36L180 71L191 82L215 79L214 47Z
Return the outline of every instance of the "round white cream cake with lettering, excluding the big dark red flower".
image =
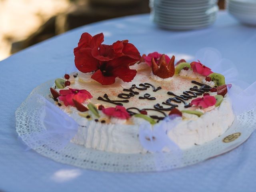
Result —
M79 50L76 49L77 57ZM51 88L56 105L79 124L71 142L107 152L146 153L147 149L139 140L140 125L150 122L154 130L170 112L170 115L182 116L182 120L166 132L181 149L196 147L223 134L235 118L223 80L216 81L216 74L208 68L205 75L200 71L205 69L200 62L191 66L181 62L174 74L174 57L170 62L163 57L158 64L152 60L151 67L144 60L131 65L130 69L137 71L131 82L116 78L114 83L102 85L91 78L94 71L72 73L56 80ZM180 68L182 65L189 68ZM162 66L172 71L168 71L169 76L157 72ZM207 79L208 76L212 76L212 80ZM66 86L65 81L68 81ZM222 86L217 86L216 82ZM70 88L74 89L72 93ZM120 105L123 111L116 107Z

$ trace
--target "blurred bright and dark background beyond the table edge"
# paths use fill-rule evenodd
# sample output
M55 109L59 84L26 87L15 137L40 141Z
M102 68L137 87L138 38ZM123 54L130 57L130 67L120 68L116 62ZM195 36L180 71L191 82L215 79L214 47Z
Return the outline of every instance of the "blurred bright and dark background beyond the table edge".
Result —
M0 0L0 60L73 28L150 12L148 0ZM224 9L224 0L218 6Z

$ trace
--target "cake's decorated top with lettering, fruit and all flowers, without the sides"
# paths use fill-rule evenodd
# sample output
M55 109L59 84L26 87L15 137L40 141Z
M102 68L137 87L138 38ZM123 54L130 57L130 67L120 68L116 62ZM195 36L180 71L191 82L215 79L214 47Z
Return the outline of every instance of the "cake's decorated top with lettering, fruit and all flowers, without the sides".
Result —
M158 52L141 57L128 40L104 45L103 37L82 34L74 49L79 72L51 88L56 104L70 114L122 124L136 124L134 116L155 124L172 114L200 117L227 94L224 76L200 61L175 64L175 56Z

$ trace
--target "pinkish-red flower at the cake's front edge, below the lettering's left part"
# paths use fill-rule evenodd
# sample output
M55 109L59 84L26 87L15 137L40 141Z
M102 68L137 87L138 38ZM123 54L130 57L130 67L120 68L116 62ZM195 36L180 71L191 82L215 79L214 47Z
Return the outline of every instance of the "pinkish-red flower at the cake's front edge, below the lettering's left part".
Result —
M110 117L115 117L118 119L130 118L130 114L126 111L126 109L119 105L116 107L102 108L102 112Z

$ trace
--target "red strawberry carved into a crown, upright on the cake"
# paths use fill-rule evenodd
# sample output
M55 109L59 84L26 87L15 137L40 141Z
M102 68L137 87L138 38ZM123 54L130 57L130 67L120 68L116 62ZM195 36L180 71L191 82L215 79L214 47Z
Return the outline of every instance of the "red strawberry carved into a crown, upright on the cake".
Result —
M175 72L174 60L175 60L175 57L172 56L170 62L167 64L165 60L165 55L162 54L158 64L156 64L156 61L154 60L154 58L152 58L151 63L152 63L153 74L163 79L174 76L174 72ZM160 66L159 68L158 68L158 65Z

